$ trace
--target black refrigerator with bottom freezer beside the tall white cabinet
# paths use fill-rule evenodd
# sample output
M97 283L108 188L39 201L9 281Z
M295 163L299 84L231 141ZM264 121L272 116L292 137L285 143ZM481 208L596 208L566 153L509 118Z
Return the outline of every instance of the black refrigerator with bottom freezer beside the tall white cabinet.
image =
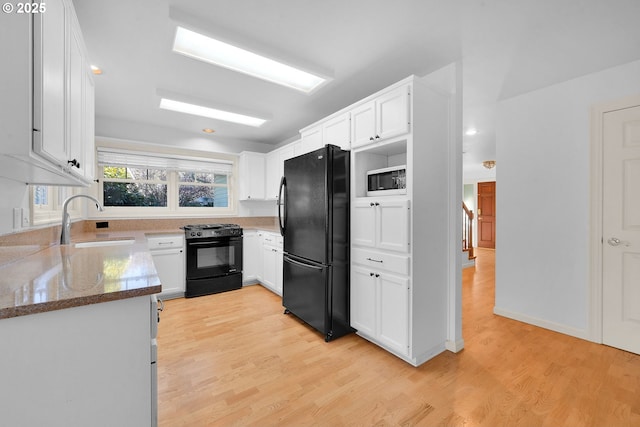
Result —
M282 305L324 335L349 325L349 151L326 145L284 162Z

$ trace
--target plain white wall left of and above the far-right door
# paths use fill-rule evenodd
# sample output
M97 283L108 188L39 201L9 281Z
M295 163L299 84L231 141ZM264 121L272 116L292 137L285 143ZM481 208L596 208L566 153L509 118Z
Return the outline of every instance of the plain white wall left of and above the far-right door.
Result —
M635 61L498 104L497 314L588 338L590 108L639 77Z

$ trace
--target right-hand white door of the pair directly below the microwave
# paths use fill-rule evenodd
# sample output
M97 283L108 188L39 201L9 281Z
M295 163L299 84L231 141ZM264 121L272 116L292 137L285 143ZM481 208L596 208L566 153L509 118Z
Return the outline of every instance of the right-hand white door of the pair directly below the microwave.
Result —
M381 199L378 199L381 200ZM409 200L381 200L376 206L376 247L409 251Z

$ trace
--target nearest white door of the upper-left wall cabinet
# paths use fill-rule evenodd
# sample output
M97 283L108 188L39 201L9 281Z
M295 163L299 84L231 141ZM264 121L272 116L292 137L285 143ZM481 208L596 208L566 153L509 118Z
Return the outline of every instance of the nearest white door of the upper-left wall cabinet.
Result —
M54 164L66 166L65 135L66 19L62 0L47 1L46 13L33 15L33 149Z

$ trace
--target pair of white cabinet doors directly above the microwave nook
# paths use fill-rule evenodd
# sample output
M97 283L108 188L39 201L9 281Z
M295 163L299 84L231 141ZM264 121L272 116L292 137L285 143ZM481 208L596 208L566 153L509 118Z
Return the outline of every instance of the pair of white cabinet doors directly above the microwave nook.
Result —
M408 133L409 86L385 92L351 111L351 148Z

